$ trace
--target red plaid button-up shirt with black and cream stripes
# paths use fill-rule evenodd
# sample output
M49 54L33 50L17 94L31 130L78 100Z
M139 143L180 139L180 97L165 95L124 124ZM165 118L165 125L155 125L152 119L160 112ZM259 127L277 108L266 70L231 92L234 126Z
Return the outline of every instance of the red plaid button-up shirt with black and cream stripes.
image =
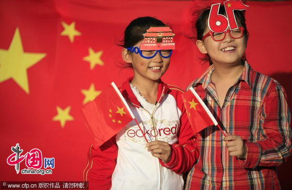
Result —
M291 114L284 88L254 71L248 63L219 106L210 66L191 86L207 104L223 130L240 136L247 157L230 156L216 126L198 133L200 157L189 172L186 190L280 189L276 166L291 154Z

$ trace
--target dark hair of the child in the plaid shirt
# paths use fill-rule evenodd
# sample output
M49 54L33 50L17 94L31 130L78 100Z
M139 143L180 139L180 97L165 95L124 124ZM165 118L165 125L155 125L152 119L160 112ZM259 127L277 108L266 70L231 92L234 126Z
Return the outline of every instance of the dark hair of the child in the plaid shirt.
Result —
M202 9L201 11L195 11L193 13L193 17L197 17L197 19L195 20L195 22L193 24L193 32L197 33L197 36L193 37L194 40L201 40L202 39L203 34L204 34L204 32L205 32L205 30L207 28L207 20L208 20L208 17L209 17L210 9L211 9L211 7L206 7L205 9ZM224 8L223 5L220 5L219 14L226 15L225 8ZM246 24L245 24L245 11L244 10L243 11L235 10L234 11L234 15L236 17L237 24L240 27L244 28L243 34L245 36L245 44L247 44L249 33L247 31L247 27L246 27ZM206 62L209 61L210 65L213 64L210 56L208 55L208 53L206 53L204 55L204 57L201 58L201 60L202 61L206 61ZM245 53L244 53L244 55L241 58L241 63L244 64L245 61L246 61L246 56L245 56Z

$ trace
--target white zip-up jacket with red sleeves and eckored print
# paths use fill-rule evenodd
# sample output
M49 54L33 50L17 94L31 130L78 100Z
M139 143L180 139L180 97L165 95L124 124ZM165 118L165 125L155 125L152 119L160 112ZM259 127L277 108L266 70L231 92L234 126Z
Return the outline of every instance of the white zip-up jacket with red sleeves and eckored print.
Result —
M131 121L102 146L91 145L84 179L89 181L92 190L183 190L180 173L191 169L198 158L195 136L181 97L183 90L161 82L157 104L149 113L133 94L129 86L131 79L119 89L144 128L147 140L170 144L171 160L163 163L152 156L143 133Z

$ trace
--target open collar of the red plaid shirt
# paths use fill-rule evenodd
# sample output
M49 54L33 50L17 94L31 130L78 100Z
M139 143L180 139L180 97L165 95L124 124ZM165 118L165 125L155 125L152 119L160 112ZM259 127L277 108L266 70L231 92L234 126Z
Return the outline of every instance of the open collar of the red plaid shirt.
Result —
M200 78L194 83L193 86L198 86L199 84L202 85L202 88L205 89L211 83L211 75L214 71L214 65L211 65L205 72L201 75ZM238 78L237 82L243 81L248 84L252 88L252 76L253 76L253 69L251 66L245 61L244 69L240 77Z

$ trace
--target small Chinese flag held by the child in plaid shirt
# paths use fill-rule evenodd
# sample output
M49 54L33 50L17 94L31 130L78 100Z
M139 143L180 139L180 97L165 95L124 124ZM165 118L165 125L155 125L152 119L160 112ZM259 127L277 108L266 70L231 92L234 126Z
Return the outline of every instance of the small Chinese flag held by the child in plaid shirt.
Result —
M193 87L190 87L189 90L184 92L182 97L187 117L195 134L211 125L217 125L222 131L218 122ZM225 136L223 131L222 133Z

